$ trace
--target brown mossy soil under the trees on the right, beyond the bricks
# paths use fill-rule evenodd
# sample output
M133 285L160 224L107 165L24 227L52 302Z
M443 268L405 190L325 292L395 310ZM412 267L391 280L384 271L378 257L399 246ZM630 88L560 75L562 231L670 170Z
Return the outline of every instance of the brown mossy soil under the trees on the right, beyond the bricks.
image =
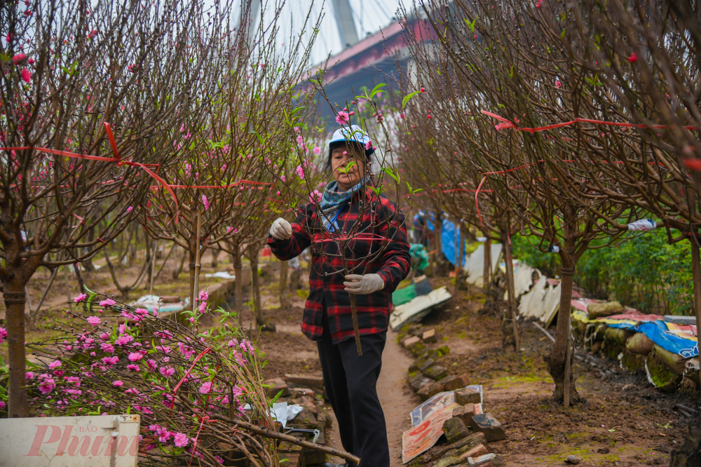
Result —
M453 290L447 280L431 282ZM477 313L483 301L482 291L470 287L423 324L436 329L438 342L433 346L451 349L442 365L484 386L485 412L494 414L506 429L506 440L490 443L504 456L505 465L564 466L569 454L582 460L580 466L669 464L669 452L683 443L689 421L674 403L695 407L697 396L661 393L648 383L644 370L632 373L597 356L612 374L601 377L599 369L577 363L577 388L586 402L567 408L555 405L550 401L554 384L543 360L550 340L526 323L525 351L504 350L501 320Z

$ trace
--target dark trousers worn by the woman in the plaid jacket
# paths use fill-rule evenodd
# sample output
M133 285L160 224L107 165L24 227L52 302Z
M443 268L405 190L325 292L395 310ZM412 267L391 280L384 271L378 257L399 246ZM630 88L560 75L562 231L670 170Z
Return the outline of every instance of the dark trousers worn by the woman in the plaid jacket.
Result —
M324 334L317 341L319 360L343 449L360 457L360 467L389 467L385 415L375 388L387 332L361 335L362 356L358 356L355 339L332 341L326 306L323 325Z

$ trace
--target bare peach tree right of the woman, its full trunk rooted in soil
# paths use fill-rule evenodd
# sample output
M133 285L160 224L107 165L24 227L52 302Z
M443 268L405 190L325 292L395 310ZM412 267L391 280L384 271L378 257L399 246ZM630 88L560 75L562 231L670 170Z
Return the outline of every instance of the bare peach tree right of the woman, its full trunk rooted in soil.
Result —
M473 102L472 118L487 111L496 119L492 124L498 123L501 144L485 145L484 132L473 143L486 146L475 158L477 168L489 176L490 184L503 180L511 212L533 246L558 252L561 260L561 312L547 364L556 384L553 398L568 405L578 400L569 371L572 353L567 313L576 262L594 245L615 243L627 231L627 224L637 220L637 212L629 205L601 191L592 192L589 184L597 179L611 191L626 191L627 187L618 179L603 177L591 161L576 157L599 129L576 124L555 135L540 131L564 128L560 123L581 117L581 109L596 111L584 107L590 94L582 84L593 81L594 86L596 78L563 67L562 55L539 27L540 4L507 2L497 11L483 1L469 6L458 2L457 8L444 3L436 1L433 8L424 9L437 32L440 53L450 57L451 66L441 71L463 76L462 95Z

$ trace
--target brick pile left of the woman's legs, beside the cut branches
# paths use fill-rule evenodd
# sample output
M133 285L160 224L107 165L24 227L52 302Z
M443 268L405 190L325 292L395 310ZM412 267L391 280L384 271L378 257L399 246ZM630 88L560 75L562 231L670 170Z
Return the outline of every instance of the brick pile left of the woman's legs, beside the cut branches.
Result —
M274 398L280 391L280 397L275 402L287 402L288 405L300 405L301 412L294 419L287 421L285 432L290 428L307 431L292 431L289 434L297 438L327 445L327 430L331 428L332 418L324 407L326 393L324 379L320 376L305 374L286 374L284 378L268 379L268 397ZM281 427L278 427L281 428ZM318 435L309 431L318 430ZM326 462L326 454L313 449L306 449L291 442L278 444L280 459L287 459L283 466L315 466Z

